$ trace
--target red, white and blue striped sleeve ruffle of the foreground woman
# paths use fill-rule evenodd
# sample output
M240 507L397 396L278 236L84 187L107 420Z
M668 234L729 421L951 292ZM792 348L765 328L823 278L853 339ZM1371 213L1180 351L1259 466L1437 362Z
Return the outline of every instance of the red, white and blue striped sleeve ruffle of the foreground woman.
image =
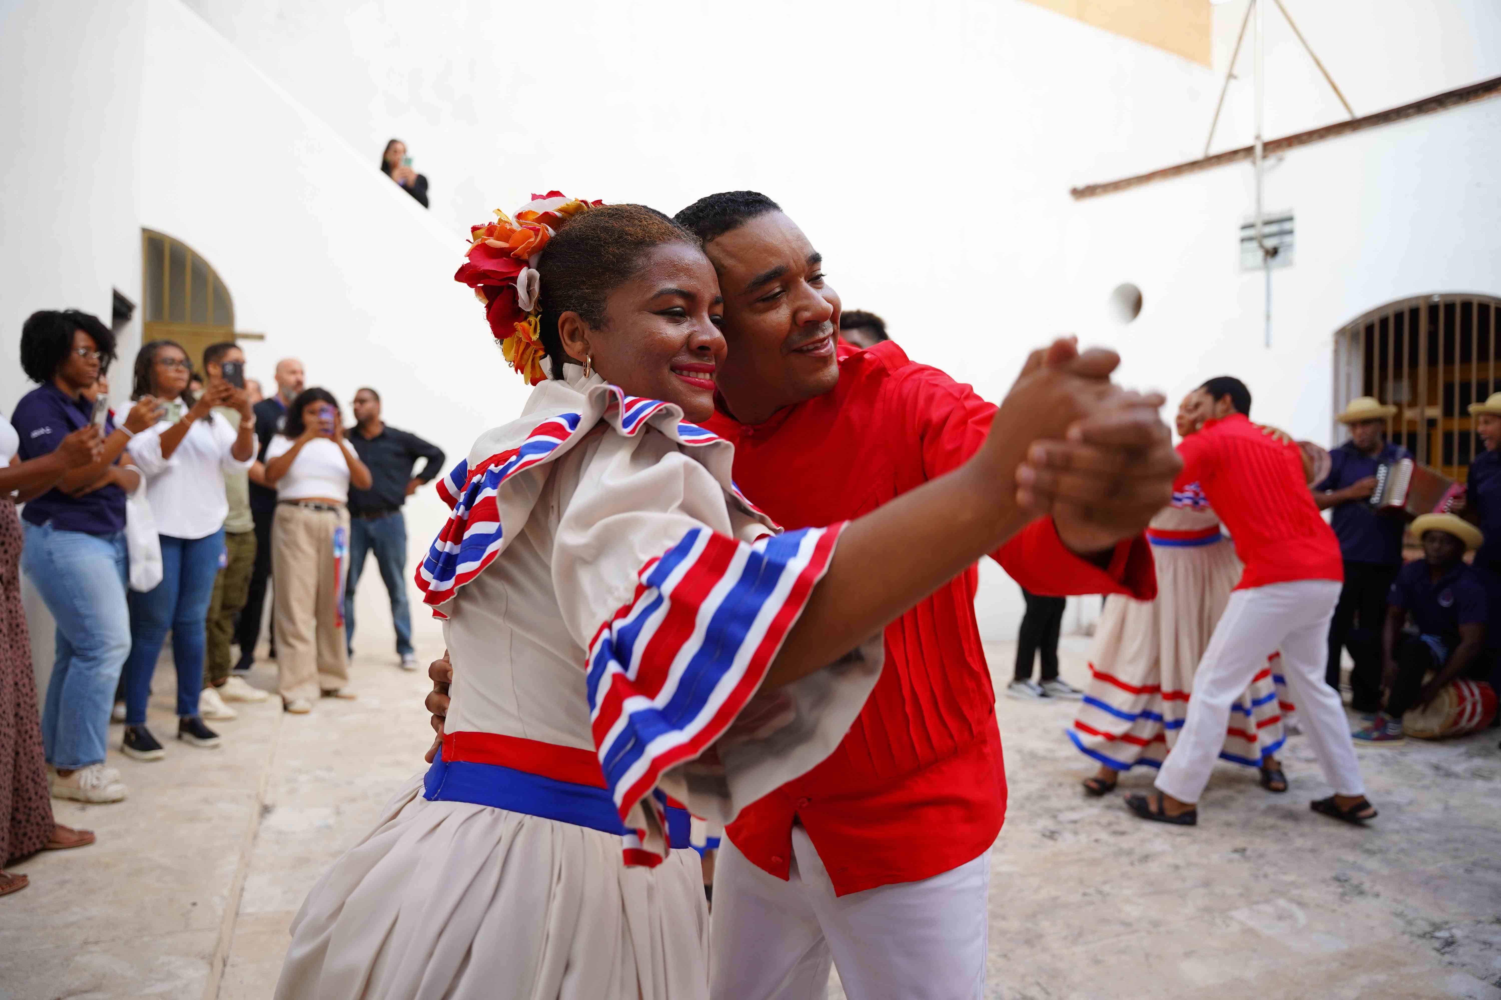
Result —
M842 531L743 543L693 528L642 567L588 649L594 745L621 819L757 693Z

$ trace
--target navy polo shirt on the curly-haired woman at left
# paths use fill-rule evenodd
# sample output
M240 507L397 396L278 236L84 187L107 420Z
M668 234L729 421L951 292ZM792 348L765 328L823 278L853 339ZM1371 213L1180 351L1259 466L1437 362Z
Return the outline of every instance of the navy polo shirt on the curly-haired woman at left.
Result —
M17 454L27 460L56 451L63 438L89 423L92 412L89 400L72 399L51 382L38 385L11 414L11 424L21 438ZM107 418L104 427L105 433L114 430L114 417ZM113 535L125 531L125 490L114 483L86 496L51 489L27 502L21 517L38 526L51 523L60 531Z

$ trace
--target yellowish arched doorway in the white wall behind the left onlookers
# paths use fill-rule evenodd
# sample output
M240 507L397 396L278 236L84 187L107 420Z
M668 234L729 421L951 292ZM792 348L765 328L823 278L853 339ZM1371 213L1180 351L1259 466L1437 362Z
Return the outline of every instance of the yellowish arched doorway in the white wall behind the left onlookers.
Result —
M234 340L234 300L219 273L191 246L141 229L144 340L176 340L203 367L203 349ZM201 373L200 373L201 376Z

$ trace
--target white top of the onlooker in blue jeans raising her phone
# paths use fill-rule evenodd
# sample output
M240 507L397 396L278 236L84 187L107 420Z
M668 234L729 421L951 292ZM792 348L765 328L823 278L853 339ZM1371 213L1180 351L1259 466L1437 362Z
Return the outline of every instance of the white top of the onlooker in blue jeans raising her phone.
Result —
M156 534L168 538L207 538L224 528L230 501L224 493L224 474L255 465L251 457L240 462L231 454L239 429L222 417L195 420L177 442L173 457L162 457L162 433L173 421L155 426L131 438L125 450L146 475L146 499L152 502Z

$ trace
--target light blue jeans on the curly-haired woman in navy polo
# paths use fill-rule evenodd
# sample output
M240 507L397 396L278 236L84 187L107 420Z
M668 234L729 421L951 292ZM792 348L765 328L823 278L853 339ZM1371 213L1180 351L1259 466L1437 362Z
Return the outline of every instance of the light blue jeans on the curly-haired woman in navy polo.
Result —
M57 622L42 706L47 763L63 771L101 763L114 685L131 652L125 532L90 535L27 522L21 568Z

